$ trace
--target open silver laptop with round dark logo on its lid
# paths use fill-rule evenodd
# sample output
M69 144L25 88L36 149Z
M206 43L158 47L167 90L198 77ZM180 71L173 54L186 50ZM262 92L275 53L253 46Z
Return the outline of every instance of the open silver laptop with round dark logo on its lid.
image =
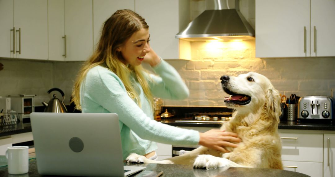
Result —
M130 176L146 167L123 166L119 119L113 113L31 113L42 175Z

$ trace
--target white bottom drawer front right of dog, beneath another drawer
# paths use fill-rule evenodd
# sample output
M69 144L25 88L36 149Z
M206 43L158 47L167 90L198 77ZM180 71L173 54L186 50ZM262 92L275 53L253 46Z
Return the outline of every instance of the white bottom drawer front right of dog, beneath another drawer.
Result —
M294 171L311 177L322 177L322 162L283 161L284 170Z

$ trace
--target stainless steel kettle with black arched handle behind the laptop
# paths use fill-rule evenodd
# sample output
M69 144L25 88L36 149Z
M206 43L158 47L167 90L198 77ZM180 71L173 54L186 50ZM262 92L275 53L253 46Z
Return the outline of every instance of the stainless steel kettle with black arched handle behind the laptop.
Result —
M42 102L42 104L44 105L44 112L53 112L53 113L66 113L67 109L64 105L64 99L65 99L65 95L64 92L62 90L60 90L59 88L51 88L48 91L48 94L50 94L52 91L58 91L59 93L62 94L63 100L60 101L58 98L56 98L56 94L54 94L54 98L51 99L49 101L49 103L46 102Z

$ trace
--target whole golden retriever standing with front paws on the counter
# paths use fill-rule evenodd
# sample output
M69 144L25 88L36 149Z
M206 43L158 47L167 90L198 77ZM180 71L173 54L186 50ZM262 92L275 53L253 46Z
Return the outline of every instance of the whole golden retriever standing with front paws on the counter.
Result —
M224 99L236 111L221 130L236 132L242 141L237 148L225 147L222 153L205 146L181 156L154 161L131 154L128 163L193 164L194 168L253 167L283 169L281 140L278 135L280 96L265 76L249 72L221 77L223 90L231 95Z

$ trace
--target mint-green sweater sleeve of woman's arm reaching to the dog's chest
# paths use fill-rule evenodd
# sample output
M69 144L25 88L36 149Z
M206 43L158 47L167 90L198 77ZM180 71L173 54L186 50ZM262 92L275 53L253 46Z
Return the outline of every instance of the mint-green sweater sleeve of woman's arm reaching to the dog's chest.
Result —
M117 113L119 120L142 139L179 145L196 145L199 132L182 129L151 120L128 96L123 84L113 72L98 70L88 73L83 84L84 97Z

